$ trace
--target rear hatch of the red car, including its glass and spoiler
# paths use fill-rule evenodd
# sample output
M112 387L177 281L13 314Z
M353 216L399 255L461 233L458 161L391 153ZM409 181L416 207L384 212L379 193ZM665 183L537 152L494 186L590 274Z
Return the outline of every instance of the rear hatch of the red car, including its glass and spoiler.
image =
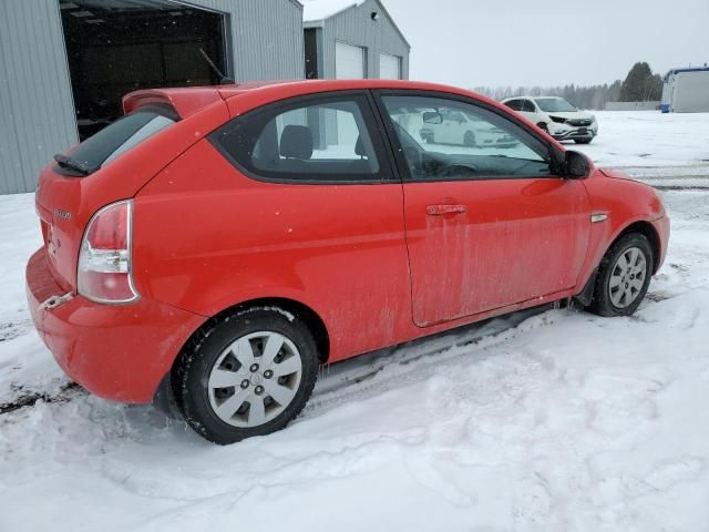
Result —
M138 91L123 101L126 115L55 157L35 195L50 270L76 290L84 229L101 207L133 197L163 167L222 125L228 110L218 91ZM198 112L199 111L199 112Z

